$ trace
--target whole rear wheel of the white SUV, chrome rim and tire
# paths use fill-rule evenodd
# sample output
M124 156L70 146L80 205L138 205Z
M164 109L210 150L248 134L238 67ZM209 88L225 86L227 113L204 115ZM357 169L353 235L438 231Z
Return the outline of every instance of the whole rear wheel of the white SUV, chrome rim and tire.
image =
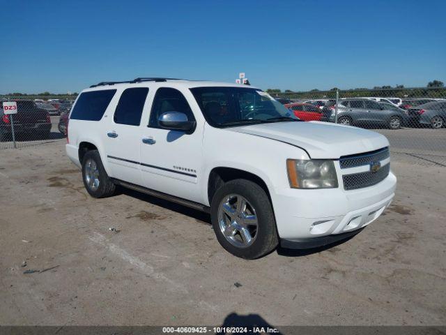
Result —
M82 158L82 179L86 191L93 198L107 198L114 195L116 186L105 171L98 150L87 151Z

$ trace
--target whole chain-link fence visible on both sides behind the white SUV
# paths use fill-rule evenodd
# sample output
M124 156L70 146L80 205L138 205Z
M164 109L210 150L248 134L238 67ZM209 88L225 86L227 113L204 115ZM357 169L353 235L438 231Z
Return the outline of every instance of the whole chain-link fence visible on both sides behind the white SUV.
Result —
M268 91L304 121L371 129L389 139L394 158L446 167L444 87ZM74 100L75 96L0 96L0 149L66 137ZM6 114L4 101L15 102L17 114Z

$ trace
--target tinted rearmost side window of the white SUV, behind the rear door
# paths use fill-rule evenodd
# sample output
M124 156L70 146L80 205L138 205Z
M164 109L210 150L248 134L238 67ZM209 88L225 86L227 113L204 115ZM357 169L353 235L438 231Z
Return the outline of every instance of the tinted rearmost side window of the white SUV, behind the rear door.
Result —
M99 121L115 93L116 89L82 93L72 109L70 119Z

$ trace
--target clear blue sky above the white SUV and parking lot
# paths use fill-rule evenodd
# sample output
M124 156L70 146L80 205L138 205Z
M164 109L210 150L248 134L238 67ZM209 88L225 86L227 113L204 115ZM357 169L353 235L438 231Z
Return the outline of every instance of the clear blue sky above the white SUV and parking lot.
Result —
M1 0L0 94L167 76L262 89L446 82L446 1Z

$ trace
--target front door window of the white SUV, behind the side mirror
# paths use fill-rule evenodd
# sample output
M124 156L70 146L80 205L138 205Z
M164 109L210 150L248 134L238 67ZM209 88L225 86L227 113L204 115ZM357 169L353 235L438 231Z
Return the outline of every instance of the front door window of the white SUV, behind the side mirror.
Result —
M161 87L156 91L148 126L160 128L158 118L165 112L181 112L187 115L189 121L195 121L189 103L178 89Z

